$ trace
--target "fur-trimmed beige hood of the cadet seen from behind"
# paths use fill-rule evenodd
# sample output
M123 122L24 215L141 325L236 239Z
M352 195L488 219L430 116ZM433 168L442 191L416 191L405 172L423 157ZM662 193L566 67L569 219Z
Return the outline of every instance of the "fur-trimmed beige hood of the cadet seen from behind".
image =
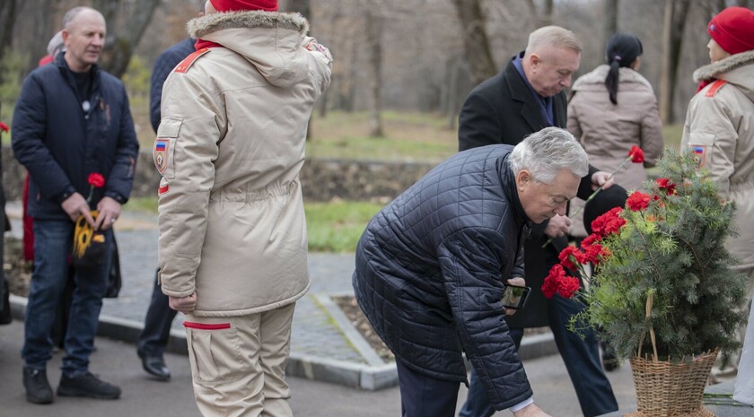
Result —
M307 77L302 42L309 22L299 13L211 13L187 24L189 36L218 43L245 57L269 83L289 87Z

